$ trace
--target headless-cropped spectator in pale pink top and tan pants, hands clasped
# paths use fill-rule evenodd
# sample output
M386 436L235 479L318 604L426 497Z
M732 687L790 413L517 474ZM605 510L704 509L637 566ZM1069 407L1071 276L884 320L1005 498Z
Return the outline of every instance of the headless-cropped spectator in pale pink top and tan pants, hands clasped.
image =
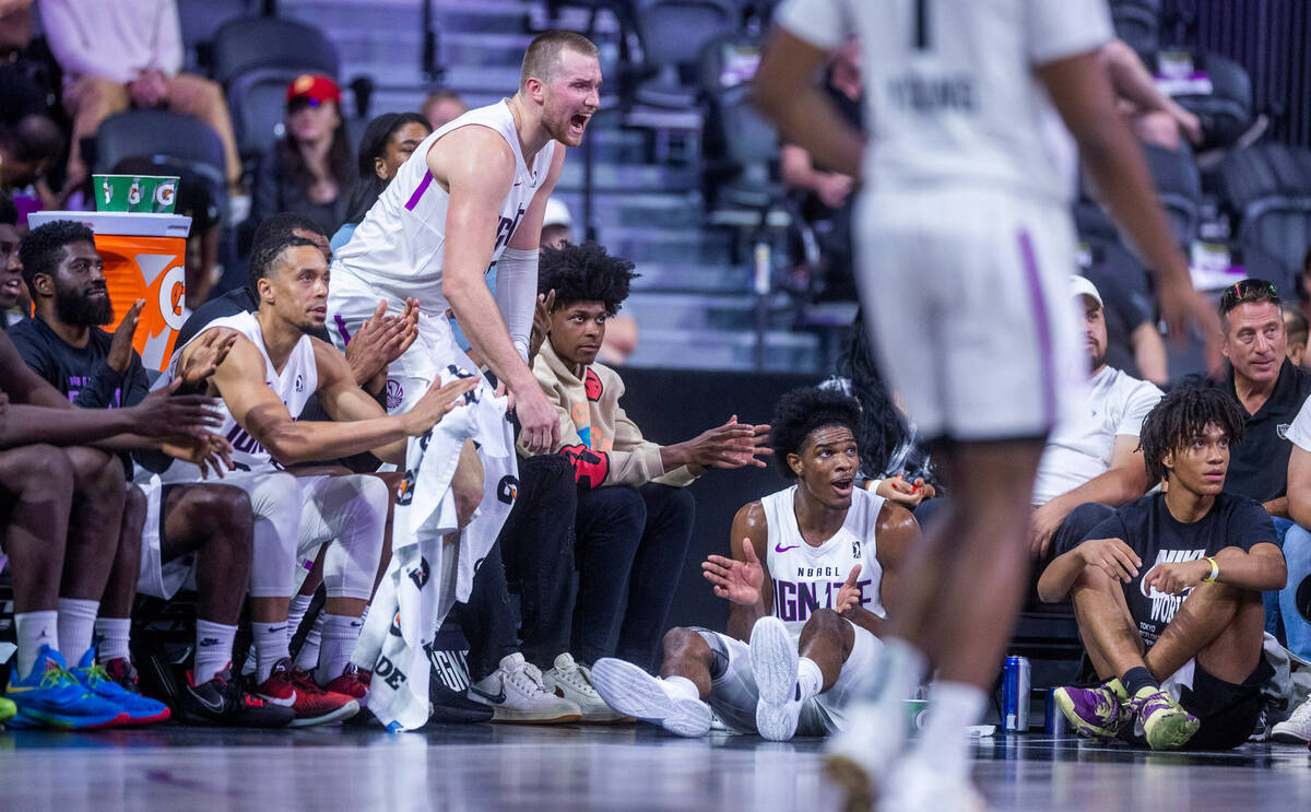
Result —
M46 41L64 71L64 109L73 119L69 192L87 180L81 139L128 108L195 115L223 140L229 192L241 192L241 157L218 83L181 73L182 30L176 0L42 0Z

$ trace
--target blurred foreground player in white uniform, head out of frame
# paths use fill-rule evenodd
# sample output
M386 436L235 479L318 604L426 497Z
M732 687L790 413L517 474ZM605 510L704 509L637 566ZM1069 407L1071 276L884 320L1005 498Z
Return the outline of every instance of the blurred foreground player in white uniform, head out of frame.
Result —
M831 742L830 769L852 808L869 807L890 766L886 808L975 808L964 728L1011 635L1033 472L1082 369L1070 184L1042 138L1053 102L1154 269L1171 332L1193 323L1213 340L1218 324L1099 66L1113 35L1103 0L788 0L775 20L758 101L815 160L864 178L853 231L865 312L891 388L939 439L953 495L907 567L871 703ZM868 150L810 84L848 35L864 50ZM931 665L929 716L902 753L902 700Z

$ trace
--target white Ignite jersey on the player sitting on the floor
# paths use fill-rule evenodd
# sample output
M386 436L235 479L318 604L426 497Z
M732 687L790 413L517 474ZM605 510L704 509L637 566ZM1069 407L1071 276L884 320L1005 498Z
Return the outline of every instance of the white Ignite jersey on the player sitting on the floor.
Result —
M886 617L878 598L884 568L878 564L874 538L884 497L853 489L842 527L825 543L812 547L797 526L796 493L797 487L792 485L760 500L770 527L766 563L773 579L773 617L800 635L814 610L832 609L838 590L856 564L860 564L856 579L860 605L880 618Z

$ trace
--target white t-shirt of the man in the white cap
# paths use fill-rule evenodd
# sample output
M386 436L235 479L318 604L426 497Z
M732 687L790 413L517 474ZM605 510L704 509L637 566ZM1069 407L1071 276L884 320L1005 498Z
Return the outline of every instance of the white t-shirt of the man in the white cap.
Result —
M1162 399L1151 383L1109 366L1088 380L1086 392L1083 408L1047 438L1033 480L1034 505L1109 471L1116 438L1138 437L1147 412Z

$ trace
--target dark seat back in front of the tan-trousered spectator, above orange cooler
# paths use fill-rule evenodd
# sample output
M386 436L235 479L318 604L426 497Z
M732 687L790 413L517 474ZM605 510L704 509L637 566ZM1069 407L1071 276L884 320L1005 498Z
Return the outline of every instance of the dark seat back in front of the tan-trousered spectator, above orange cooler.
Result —
M223 142L199 118L168 110L128 110L106 118L96 131L96 172L113 172L139 157L161 172L203 178L219 211L227 209Z

